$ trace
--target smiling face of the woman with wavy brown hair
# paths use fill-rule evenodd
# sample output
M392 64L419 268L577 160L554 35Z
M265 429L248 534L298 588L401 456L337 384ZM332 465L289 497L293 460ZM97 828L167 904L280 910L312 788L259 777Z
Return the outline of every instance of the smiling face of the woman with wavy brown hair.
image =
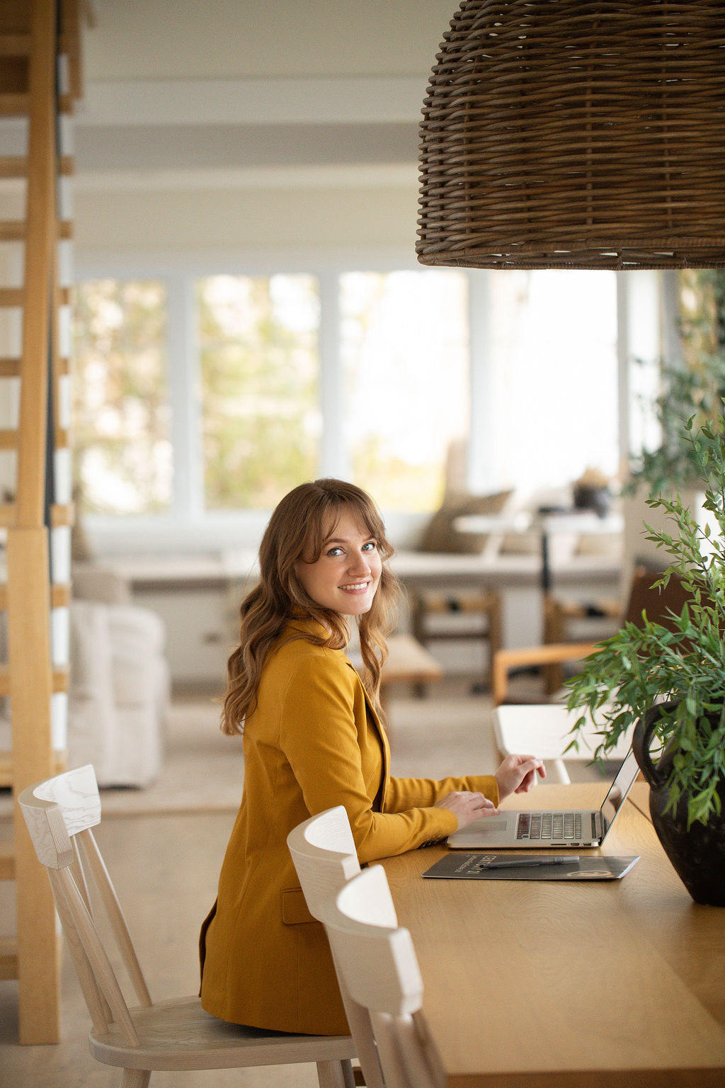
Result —
M305 592L323 608L341 616L370 610L383 571L377 541L342 507L323 544L320 558L302 558L295 570Z

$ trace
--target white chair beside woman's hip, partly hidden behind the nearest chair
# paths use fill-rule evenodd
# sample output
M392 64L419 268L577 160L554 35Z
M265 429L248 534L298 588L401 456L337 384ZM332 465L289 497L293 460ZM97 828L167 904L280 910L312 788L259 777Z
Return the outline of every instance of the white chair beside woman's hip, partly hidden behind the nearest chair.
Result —
M300 888L310 914L325 924L337 893L360 873L360 862L342 805L299 824L287 836ZM334 959L334 956L333 956ZM337 964L335 965L337 970ZM340 993L367 1088L384 1088L380 1062L367 1010L350 997L337 970Z

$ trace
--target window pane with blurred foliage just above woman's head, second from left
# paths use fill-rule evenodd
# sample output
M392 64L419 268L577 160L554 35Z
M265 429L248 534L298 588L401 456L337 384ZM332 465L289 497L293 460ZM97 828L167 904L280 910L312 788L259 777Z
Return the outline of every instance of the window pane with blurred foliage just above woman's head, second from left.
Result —
M316 473L317 281L209 276L197 312L207 509L270 509Z

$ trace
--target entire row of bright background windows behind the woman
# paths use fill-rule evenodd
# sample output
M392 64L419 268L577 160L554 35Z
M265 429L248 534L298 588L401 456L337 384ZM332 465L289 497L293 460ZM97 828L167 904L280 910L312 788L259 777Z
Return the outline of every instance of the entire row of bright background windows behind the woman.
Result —
M446 483L616 473L613 272L205 268L87 280L77 299L76 475L109 532L136 515L160 540L255 543L320 474L413 531Z

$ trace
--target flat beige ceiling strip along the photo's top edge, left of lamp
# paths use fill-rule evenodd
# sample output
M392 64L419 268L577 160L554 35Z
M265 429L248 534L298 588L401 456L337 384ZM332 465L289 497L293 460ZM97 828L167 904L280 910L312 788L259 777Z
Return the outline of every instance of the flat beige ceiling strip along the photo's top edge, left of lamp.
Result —
M89 81L417 74L455 0L92 0Z

